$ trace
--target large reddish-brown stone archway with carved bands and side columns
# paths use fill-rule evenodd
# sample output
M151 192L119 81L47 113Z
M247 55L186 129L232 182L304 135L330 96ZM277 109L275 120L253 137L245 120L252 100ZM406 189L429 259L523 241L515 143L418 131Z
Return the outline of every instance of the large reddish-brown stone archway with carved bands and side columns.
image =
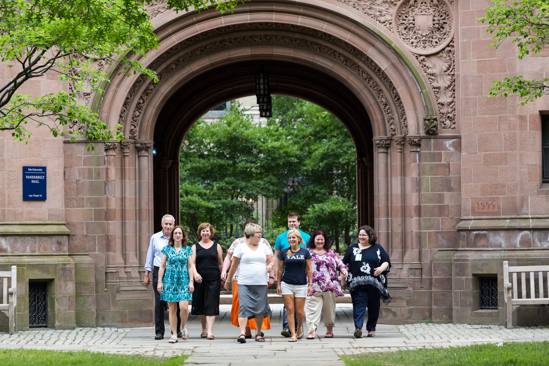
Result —
M127 138L121 154L117 144L105 144L109 292L139 291L153 220L164 212L178 216L184 135L213 106L254 94L260 65L273 94L321 105L349 129L357 150L358 223L373 224L386 243L396 289L423 283L421 225L412 217L420 211L421 136L438 133L447 125L440 118L449 115L441 109L440 85L430 88L421 76L429 56L414 55L375 16L332 0L253 2L232 14L177 15L159 6L152 14L161 46L142 61L159 83L114 77L99 108L100 118L121 123Z

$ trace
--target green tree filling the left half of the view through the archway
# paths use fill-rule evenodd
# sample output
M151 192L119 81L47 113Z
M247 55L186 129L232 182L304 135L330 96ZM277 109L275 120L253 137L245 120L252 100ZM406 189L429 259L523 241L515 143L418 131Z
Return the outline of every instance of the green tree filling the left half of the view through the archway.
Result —
M258 196L278 199L293 175L298 151L276 123L261 126L239 106L216 122L198 121L180 153L181 221L229 227L251 218Z

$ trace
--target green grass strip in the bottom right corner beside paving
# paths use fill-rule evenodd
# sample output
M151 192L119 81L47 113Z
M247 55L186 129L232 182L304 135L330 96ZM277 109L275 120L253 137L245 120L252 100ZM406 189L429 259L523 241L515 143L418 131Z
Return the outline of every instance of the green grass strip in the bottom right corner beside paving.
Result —
M348 366L546 366L549 342L379 352L341 358Z

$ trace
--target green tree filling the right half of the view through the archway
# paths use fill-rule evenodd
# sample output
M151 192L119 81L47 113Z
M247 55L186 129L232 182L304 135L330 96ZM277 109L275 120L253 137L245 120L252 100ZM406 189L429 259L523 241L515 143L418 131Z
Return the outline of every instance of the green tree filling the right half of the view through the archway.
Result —
M273 119L299 151L288 202L276 210L276 223L289 212L302 217L304 230L322 229L339 251L339 235L350 244L356 226L356 150L349 131L334 115L305 100L274 96ZM270 121L270 123L271 123Z

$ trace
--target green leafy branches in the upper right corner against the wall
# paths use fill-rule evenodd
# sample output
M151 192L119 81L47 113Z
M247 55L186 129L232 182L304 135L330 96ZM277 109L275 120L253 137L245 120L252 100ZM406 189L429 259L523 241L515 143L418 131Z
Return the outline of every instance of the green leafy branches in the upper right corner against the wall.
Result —
M518 59L542 52L549 42L549 2L540 0L492 0L494 6L486 16L479 18L488 24L487 32L494 37L489 47L498 48L504 41L512 40L518 47ZM523 76L506 77L494 81L490 97L518 95L520 105L549 94L549 78L529 80Z

